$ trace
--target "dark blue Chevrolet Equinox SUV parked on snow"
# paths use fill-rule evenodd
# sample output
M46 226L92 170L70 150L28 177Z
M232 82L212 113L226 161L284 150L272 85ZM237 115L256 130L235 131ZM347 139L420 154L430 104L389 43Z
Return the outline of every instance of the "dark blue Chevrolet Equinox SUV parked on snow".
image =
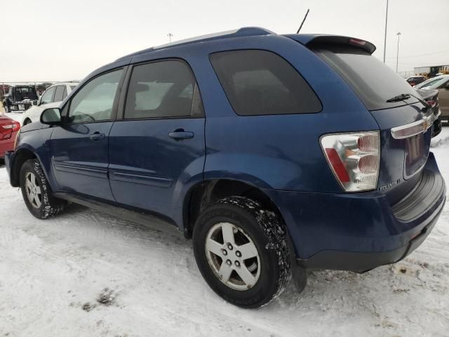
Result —
M193 238L234 305L310 269L365 272L419 246L445 203L431 107L351 37L248 27L126 55L24 126L11 185Z

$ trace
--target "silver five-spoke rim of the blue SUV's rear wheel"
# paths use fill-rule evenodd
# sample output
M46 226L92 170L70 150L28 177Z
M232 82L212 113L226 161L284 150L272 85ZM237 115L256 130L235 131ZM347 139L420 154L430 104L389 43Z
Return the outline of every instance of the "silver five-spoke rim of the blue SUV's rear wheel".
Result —
M205 247L210 268L223 284L238 291L255 286L260 278L260 255L241 227L232 223L213 225Z

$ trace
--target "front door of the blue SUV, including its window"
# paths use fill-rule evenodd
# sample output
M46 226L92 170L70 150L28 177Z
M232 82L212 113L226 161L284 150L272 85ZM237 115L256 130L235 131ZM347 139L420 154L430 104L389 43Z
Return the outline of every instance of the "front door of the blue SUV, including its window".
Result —
M77 91L51 135L51 159L60 190L114 201L107 166L108 136L116 116L123 69L100 74Z

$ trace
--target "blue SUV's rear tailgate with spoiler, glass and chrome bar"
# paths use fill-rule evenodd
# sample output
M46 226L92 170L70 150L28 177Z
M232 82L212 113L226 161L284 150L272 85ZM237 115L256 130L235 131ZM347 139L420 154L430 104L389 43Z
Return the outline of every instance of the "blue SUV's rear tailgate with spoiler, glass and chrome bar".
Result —
M377 121L381 135L377 190L396 204L420 183L429 156L433 112L420 103L405 79L371 55L373 44L350 37L288 37L333 67ZM398 95L403 96L391 100Z

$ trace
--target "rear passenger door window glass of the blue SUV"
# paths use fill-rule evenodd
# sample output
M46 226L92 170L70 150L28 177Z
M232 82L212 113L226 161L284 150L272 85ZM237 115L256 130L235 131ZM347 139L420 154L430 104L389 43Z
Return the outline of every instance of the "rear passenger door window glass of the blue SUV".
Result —
M191 117L198 91L192 70L185 62L166 60L133 68L125 118Z

